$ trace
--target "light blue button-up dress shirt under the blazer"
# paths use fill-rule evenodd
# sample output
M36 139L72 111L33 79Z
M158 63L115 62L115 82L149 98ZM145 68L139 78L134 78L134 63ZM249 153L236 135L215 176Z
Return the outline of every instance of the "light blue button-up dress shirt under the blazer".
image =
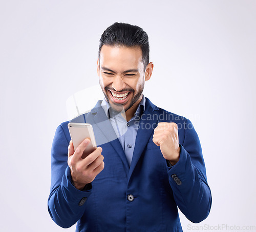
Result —
M121 115L121 113L116 114L116 112L112 110L112 108L109 105L109 102L106 101L105 98L101 103L101 106L104 109L106 116L110 119L110 122L117 135L117 138L119 139L119 142L124 150L129 166L131 166L131 162L133 159L133 151L139 127L139 120L140 116L143 114L145 110L145 102L146 99L143 95L142 100L140 101L140 104L134 116L131 118L129 122L126 121L126 119Z

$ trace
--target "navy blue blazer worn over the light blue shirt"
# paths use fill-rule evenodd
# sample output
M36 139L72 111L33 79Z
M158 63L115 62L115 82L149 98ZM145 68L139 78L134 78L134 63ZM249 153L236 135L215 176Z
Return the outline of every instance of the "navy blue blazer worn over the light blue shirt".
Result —
M146 98L129 167L100 103L73 120L93 124L96 142L100 141L104 156L104 169L84 191L72 185L67 163L71 140L68 122L61 123L56 130L48 199L53 221L63 228L77 222L76 231L182 231L177 206L191 222L204 220L210 211L211 193L193 124L156 107ZM152 141L154 128L164 121L178 125L180 160L172 167L168 167L160 147Z

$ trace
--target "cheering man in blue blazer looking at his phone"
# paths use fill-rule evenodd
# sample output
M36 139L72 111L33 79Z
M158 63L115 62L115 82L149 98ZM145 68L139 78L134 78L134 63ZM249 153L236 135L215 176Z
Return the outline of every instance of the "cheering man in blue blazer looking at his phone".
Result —
M57 128L48 200L54 222L77 222L76 231L182 231L177 206L190 221L204 220L211 193L198 135L188 119L142 94L154 67L147 34L114 23L101 36L97 63L105 99L72 121L93 124L100 146L81 159L89 139L74 150L68 122Z

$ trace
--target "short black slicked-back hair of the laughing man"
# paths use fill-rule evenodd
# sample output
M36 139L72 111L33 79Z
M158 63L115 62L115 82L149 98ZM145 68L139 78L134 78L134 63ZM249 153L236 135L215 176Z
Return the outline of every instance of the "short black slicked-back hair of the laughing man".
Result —
M111 46L139 46L142 51L142 62L144 70L150 62L150 44L148 36L142 28L128 23L115 22L108 27L100 37L99 40L99 57L100 50L103 45Z

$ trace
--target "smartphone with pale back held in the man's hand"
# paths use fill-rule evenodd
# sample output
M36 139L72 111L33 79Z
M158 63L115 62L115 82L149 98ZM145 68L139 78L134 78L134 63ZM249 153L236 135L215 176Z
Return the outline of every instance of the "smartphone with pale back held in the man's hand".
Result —
M86 158L91 154L96 148L96 140L93 133L93 126L89 123L76 123L70 122L68 124L70 137L72 139L74 149L81 144L84 139L89 138L91 141L86 149L83 151L82 159Z

